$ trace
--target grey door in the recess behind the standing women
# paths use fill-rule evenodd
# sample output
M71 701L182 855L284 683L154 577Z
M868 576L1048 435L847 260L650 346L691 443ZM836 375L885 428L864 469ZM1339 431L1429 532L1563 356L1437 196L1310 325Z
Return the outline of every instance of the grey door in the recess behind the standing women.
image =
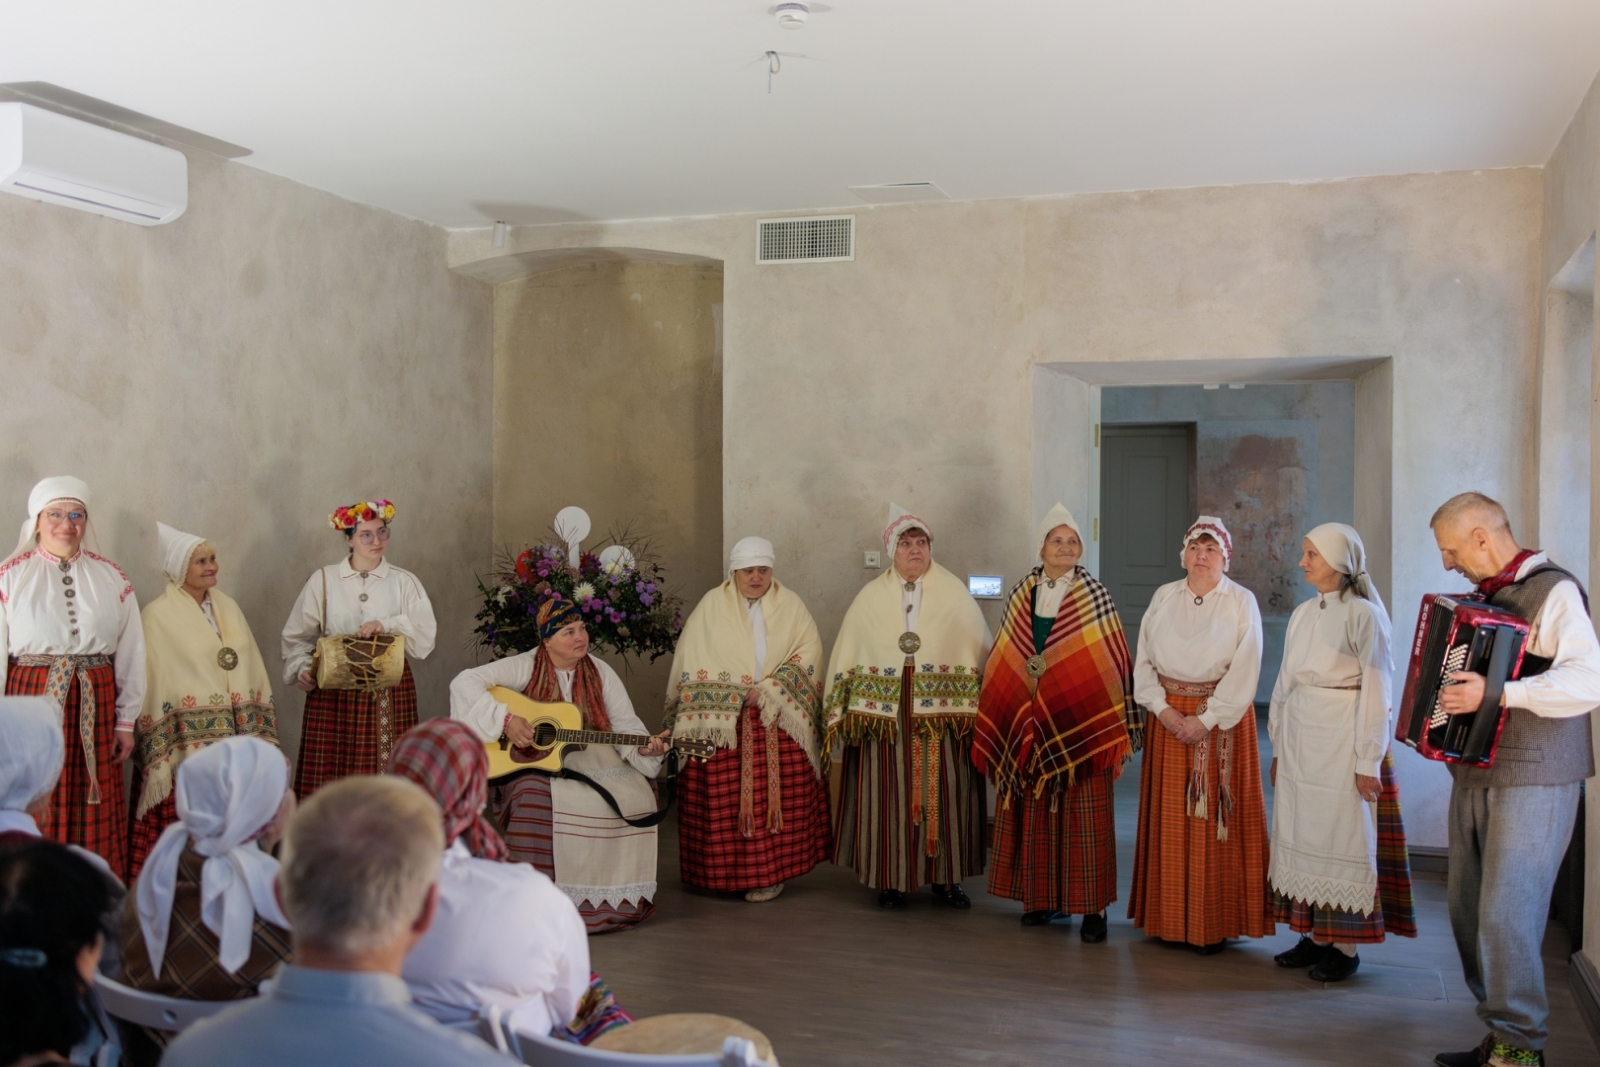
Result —
M1138 654L1150 597L1184 576L1194 522L1194 424L1101 427L1101 581Z

